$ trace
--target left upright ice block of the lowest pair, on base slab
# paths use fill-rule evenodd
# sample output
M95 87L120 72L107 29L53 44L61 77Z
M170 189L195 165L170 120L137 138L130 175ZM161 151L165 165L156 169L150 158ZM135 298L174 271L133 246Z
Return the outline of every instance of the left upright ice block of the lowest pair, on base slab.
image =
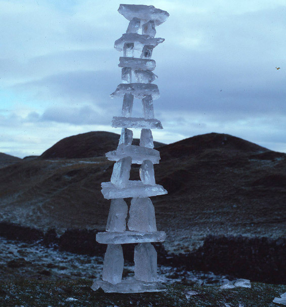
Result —
M117 284L122 279L124 258L120 244L108 244L104 255L102 280Z

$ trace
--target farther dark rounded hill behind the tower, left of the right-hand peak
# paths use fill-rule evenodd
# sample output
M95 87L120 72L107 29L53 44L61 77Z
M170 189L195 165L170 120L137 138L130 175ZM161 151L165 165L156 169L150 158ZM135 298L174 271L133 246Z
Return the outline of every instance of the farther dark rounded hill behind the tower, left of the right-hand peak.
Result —
M118 145L119 135L106 131L92 131L60 140L46 150L42 159L77 159L105 156L105 153L115 150ZM134 139L134 145L139 145L139 140ZM159 147L163 143L154 142Z

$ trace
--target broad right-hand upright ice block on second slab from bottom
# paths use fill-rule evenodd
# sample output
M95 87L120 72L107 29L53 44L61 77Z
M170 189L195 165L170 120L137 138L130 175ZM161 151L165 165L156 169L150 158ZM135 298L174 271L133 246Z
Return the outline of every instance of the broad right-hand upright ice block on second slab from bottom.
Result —
M128 229L132 231L157 231L155 209L150 198L132 198Z

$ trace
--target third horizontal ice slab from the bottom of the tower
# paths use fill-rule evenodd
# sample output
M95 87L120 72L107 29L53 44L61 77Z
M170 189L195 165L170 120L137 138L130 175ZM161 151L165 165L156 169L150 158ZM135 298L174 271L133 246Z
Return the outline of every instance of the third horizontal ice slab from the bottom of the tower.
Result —
M128 198L128 197L150 197L164 195L168 192L160 185L144 185L140 180L128 181L125 188L116 188L111 182L101 183L101 193L105 199Z

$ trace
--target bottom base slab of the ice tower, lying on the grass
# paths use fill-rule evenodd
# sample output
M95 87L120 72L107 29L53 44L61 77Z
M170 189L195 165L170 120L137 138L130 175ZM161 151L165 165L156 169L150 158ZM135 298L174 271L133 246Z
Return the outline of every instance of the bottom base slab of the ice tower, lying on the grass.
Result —
M132 279L124 279L119 284L112 285L106 281L96 280L92 287L94 291L101 288L106 293L141 293L166 291L165 285L158 282L143 282Z

